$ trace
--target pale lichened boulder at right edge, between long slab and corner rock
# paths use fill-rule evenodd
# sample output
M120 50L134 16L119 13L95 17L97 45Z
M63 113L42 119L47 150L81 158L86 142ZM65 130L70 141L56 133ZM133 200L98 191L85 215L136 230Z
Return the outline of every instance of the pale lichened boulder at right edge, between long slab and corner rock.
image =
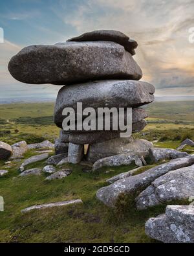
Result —
M189 202L194 195L194 165L172 170L153 181L136 198L138 209L167 204L169 202Z

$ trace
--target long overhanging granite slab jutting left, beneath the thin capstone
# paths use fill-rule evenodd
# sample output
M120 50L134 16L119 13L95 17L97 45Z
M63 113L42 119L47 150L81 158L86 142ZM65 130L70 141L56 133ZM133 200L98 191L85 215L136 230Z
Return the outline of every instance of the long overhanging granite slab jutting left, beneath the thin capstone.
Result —
M131 54L111 41L28 46L12 57L8 69L16 80L27 84L142 78L142 70Z

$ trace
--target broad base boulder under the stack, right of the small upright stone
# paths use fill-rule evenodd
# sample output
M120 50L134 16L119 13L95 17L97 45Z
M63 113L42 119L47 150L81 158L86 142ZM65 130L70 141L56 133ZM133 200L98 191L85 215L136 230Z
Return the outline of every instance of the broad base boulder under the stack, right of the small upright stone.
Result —
M102 143L89 145L87 152L87 160L94 163L98 159L118 154L137 154L139 156L147 156L149 148L153 144L145 139L116 138Z

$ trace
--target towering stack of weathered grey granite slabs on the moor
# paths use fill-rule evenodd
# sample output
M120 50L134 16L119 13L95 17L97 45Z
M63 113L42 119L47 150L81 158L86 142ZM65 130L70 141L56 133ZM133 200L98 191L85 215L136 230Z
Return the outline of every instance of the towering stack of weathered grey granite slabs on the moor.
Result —
M83 109L133 108L133 133L146 126L146 111L140 106L153 102L155 87L140 82L142 70L133 59L135 40L114 30L97 30L56 45L32 45L14 56L8 69L14 78L28 84L55 84L61 87L54 109L54 122L62 127L64 108L82 102ZM126 115L125 115L126 117ZM111 128L113 123L111 122ZM71 163L83 159L84 145L89 145L87 160L116 154L145 155L151 143L120 138L120 131L60 131L56 154L68 152Z

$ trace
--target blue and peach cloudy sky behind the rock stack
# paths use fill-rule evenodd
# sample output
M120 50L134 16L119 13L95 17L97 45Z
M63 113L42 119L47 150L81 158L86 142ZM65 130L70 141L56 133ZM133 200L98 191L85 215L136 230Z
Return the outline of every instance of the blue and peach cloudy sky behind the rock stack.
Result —
M155 85L156 96L194 96L193 14L193 0L1 0L0 100L55 98L59 86L22 84L8 73L8 61L27 45L98 29L120 30L138 42L141 80Z

